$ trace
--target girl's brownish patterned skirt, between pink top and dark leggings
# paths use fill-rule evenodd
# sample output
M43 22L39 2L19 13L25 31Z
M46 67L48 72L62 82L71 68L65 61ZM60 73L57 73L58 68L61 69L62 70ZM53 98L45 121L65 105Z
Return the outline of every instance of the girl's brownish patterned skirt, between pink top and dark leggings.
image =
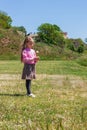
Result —
M22 79L35 79L35 64L24 64L22 71Z

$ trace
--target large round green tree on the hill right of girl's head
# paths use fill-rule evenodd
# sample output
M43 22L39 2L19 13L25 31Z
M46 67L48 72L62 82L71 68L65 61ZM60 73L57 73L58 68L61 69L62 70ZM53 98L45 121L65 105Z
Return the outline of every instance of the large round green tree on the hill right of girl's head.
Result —
M64 38L61 33L61 29L57 25L52 25L49 23L41 24L38 27L39 40L47 44L63 44Z

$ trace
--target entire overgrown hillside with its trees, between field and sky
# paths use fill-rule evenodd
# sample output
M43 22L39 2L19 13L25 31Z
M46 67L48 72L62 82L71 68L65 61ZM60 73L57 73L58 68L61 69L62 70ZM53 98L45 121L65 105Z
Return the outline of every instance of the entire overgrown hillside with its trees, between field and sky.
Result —
M24 26L11 26L12 19L5 12L0 12L0 59L19 59L20 44L26 29ZM81 39L64 39L59 26L50 23L38 27L35 49L43 60L76 59L87 49Z

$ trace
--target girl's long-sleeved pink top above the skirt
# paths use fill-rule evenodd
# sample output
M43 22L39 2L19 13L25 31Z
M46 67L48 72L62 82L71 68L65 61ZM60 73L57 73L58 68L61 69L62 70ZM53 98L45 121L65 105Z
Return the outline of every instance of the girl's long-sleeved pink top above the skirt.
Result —
M36 53L35 50L25 48L22 52L22 61L28 64L35 64Z

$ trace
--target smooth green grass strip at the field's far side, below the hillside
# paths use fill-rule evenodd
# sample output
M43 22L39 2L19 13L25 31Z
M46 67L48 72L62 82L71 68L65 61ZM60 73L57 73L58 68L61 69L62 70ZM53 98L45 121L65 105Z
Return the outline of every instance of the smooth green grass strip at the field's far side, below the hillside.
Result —
M20 61L0 61L0 73L20 74L23 64ZM75 61L40 61L36 65L38 74L76 75L87 77L87 67Z

